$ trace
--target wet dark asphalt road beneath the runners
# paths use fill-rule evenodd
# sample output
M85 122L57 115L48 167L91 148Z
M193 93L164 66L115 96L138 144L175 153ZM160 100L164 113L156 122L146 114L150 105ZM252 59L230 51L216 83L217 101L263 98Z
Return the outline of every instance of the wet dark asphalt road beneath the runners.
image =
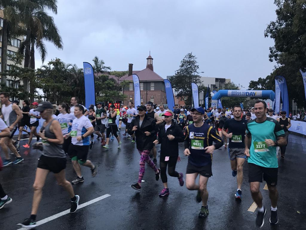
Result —
M207 185L209 215L206 219L200 219L198 213L201 204L195 201L196 191L187 190L185 185L179 186L177 178L168 176L170 195L160 198L158 194L163 188L162 182L155 181L154 171L146 166L141 191L130 187L137 182L140 157L136 145L123 138L122 133L120 136L121 149L117 149L116 139L110 141L109 149L102 148L99 141L94 145L88 159L99 165L97 176L91 178L90 169L82 167L85 182L73 185L75 193L80 195L79 204L104 194L111 196L35 229L257 229L257 211L248 211L253 203L249 192L248 165L244 164L242 201L236 201L236 178L231 174L227 149L222 147L214 152L213 177ZM261 229L306 229L305 140L289 135L286 158L278 159L277 225L271 226L269 222L271 203L268 191L263 190L265 183L261 185L263 203L267 207L265 224ZM31 212L32 184L40 153L23 148L24 143L25 140L21 141L24 162L5 167L0 172L2 186L13 199L11 204L0 210L1 230L19 229L16 224L28 218ZM182 161L177 163L176 170L185 175L187 157L183 156L183 143L180 143L180 156ZM70 161L67 163L66 177L69 181L76 177ZM65 190L57 185L50 173L43 189L37 221L69 209L69 201Z

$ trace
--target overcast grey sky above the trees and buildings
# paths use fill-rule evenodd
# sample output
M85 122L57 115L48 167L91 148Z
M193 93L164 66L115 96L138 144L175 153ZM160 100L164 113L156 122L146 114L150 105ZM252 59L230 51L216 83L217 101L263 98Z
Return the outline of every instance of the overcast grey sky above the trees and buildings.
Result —
M192 52L201 76L247 88L273 71L268 54L274 42L263 34L275 9L272 0L58 0L54 21L64 49L46 42L45 64L57 57L83 68L98 56L112 70L127 70L128 63L142 70L151 50L154 71L166 78ZM37 52L35 59L40 67Z

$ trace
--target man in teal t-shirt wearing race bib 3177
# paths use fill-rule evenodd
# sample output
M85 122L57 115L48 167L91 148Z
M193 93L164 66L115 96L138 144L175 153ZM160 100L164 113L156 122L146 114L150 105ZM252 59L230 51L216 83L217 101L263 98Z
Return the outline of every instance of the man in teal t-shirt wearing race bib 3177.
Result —
M260 182L267 182L269 197L271 200L270 223L277 224L277 199L278 191L277 173L278 162L276 158L276 146L286 144L285 132L277 121L266 116L267 104L264 101L256 101L254 111L256 119L248 121L245 135L244 154L248 156L249 183L252 198L258 206L256 225L263 226L266 208L262 203L262 195L259 191Z

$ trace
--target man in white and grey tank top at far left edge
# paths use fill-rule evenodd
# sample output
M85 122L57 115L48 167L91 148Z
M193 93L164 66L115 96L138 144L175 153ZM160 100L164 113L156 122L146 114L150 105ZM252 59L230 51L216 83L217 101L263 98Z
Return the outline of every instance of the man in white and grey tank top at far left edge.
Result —
M0 140L0 146L4 152L5 160L3 161L3 166L7 166L9 164L18 164L23 161L23 158L18 153L19 151L19 143L18 140L13 140L13 135L17 130L17 124L22 119L22 113L18 105L13 104L9 101L9 93L2 92L0 93L0 100L2 103L1 107L1 118L5 122L5 124L9 127L9 131L11 132L9 137L2 137ZM9 148L16 156L16 159L12 162L9 156Z

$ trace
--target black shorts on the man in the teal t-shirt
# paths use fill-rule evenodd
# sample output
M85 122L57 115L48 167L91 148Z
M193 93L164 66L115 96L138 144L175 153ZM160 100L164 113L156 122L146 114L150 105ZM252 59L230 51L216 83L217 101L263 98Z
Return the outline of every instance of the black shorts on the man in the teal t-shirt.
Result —
M266 181L270 186L277 185L278 168L266 168L253 163L248 163L249 166L249 182Z

